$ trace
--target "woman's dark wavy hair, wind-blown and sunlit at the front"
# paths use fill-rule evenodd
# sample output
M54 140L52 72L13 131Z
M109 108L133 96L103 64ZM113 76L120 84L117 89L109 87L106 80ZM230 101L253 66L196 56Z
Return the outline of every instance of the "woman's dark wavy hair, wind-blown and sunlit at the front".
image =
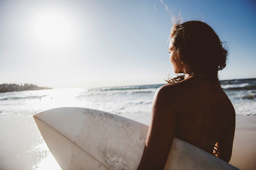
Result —
M208 24L200 21L178 22L173 25L171 38L174 40L172 50L176 60L187 64L192 74L204 75L219 83L218 71L226 67L228 52ZM177 76L167 82L183 79Z

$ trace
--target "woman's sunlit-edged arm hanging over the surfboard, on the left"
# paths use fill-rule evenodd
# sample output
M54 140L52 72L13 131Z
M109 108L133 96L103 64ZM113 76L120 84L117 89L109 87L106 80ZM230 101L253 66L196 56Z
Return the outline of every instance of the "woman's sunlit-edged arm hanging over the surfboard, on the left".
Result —
M138 169L163 169L175 132L175 109L168 86L160 87L153 100L151 122Z

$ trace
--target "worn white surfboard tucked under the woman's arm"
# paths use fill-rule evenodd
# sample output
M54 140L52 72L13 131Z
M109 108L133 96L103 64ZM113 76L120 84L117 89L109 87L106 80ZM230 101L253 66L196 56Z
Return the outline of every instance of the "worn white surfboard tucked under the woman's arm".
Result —
M136 169L148 125L103 111L62 107L34 115L62 169ZM165 169L237 169L178 138Z

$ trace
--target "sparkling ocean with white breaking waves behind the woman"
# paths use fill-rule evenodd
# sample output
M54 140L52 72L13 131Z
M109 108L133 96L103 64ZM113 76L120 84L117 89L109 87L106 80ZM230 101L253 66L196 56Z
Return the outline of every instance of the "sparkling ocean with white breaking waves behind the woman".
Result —
M55 107L85 107L116 114L148 113L164 84L102 88L63 88L0 93L0 115L33 115ZM256 115L256 78L223 80L221 87L236 115Z

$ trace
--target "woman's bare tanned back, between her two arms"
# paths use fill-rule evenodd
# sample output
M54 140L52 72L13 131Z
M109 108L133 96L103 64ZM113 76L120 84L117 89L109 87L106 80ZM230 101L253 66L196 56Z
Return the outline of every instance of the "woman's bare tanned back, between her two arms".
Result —
M233 105L221 87L214 86L207 77L191 76L176 85L182 89L183 100L176 117L175 136L212 153L224 129L233 129L229 133L234 133ZM214 88L218 90L216 94Z

